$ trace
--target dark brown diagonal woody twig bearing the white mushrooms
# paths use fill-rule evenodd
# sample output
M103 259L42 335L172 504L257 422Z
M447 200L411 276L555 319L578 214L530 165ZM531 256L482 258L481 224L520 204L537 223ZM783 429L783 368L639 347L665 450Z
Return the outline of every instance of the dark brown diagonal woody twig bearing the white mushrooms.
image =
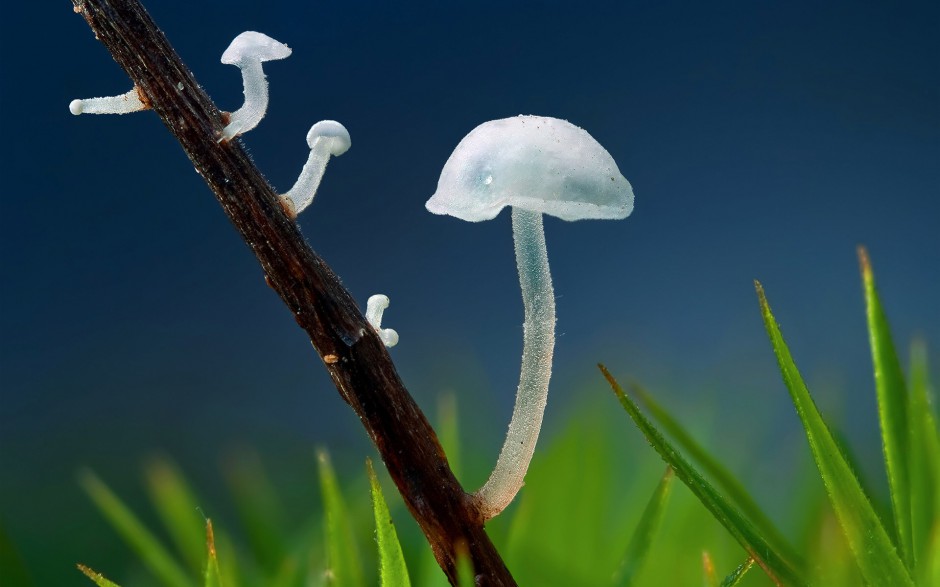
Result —
M437 435L375 331L301 236L239 140L218 143L223 115L137 0L73 0L96 38L179 140L251 247L271 288L310 336L336 389L359 416L438 563L456 585L466 552L478 585L515 585L454 478Z

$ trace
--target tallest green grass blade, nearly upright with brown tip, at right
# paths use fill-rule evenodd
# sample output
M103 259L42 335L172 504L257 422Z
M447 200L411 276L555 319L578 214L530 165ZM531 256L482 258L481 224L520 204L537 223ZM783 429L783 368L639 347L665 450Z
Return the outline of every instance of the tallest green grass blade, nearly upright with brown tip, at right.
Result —
M885 470L891 490L896 544L910 569L914 566L911 538L911 486L908 474L907 388L901 362L891 340L891 330L881 299L875 288L875 276L864 247L858 248L865 290L868 338L875 368L875 390L878 396L878 419L881 423L881 445Z

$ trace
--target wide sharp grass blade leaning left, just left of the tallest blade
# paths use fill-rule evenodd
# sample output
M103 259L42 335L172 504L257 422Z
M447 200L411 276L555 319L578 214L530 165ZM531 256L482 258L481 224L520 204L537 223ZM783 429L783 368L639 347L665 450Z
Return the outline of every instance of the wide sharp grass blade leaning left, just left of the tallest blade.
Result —
M816 404L803 383L777 321L770 311L763 287L757 282L755 286L764 325L777 356L784 383L806 430L816 467L862 575L871 585L913 585L894 543L881 525L871 502L862 491L822 415L816 409Z

